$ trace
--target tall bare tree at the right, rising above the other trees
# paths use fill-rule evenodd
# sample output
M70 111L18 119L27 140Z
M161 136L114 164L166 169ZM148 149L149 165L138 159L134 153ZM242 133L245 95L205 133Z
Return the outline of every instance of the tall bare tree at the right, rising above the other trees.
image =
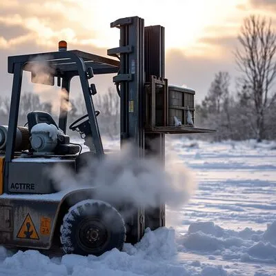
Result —
M235 51L244 83L248 83L255 107L257 141L264 139L264 113L275 101L271 88L276 77L276 32L271 19L252 15L244 19L238 36L241 45Z

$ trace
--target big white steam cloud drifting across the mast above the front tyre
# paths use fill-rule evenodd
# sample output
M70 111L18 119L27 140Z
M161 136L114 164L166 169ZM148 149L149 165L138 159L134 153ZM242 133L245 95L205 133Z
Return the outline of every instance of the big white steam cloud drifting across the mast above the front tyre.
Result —
M56 166L52 177L58 190L97 187L93 197L112 204L131 202L135 206L157 207L166 203L179 208L195 190L193 174L170 153L166 169L155 159L138 159L126 146L104 159L91 159L77 175Z

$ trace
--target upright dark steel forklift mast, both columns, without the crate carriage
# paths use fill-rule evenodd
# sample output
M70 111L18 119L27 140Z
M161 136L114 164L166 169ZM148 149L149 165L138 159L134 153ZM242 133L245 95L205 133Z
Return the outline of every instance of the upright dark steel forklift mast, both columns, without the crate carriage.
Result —
M140 17L118 19L110 27L120 30L119 47L109 49L108 55L120 59L119 74L113 81L120 84L121 144L134 141L138 157L155 155L164 164L165 135L145 131L146 83L151 76L164 79L165 75L164 27L145 27ZM146 226L152 230L165 226L165 204L160 202L158 208L139 211L137 217L144 217ZM142 228L139 224L137 221L138 229Z

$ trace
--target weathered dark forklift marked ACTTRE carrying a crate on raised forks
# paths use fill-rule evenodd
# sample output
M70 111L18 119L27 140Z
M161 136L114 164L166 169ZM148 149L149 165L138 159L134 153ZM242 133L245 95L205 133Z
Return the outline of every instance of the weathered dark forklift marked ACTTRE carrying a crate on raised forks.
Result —
M120 97L121 145L135 145L137 158L154 156L164 164L165 134L212 132L195 128L195 91L169 86L164 73L164 27L144 26L140 17L126 17L110 23L119 28L119 47L107 50L110 57L67 50L59 41L57 52L8 57L13 75L8 126L0 126L0 244L19 248L64 253L101 255L125 242L135 244L144 230L165 226L165 202L155 208L135 207L124 215L131 202L115 204L97 197L91 188L57 190L50 177L53 166L70 168L76 174L90 159L103 159L93 97L93 77L116 74L112 81ZM37 77L34 67L47 64L47 78ZM66 135L68 108L60 108L56 122L43 110L26 115L28 126L17 126L23 71L32 82L61 87L70 94L70 81L78 77L87 114L70 124L85 140L89 150Z

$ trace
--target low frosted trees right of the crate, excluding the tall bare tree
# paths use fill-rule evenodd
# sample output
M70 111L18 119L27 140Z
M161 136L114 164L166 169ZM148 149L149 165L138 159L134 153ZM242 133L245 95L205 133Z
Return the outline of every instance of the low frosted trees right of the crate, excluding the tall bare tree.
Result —
M246 84L239 86L237 83L237 92L230 92L229 87L228 72L218 72L204 100L195 106L196 125L217 130L212 135L199 136L215 141L258 139L260 130L250 86ZM268 98L267 101L261 137L276 139L276 102L272 98Z

